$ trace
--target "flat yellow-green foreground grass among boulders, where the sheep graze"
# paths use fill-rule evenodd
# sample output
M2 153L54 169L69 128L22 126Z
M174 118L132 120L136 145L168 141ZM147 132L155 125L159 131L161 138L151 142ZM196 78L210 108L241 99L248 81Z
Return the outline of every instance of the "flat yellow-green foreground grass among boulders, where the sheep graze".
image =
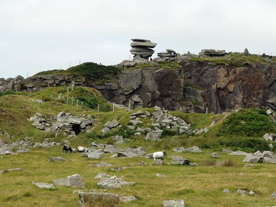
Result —
M161 150L161 149L160 149ZM147 153L154 151L148 150ZM178 155L196 162L198 166L180 165L151 165L153 159L139 158L109 158L105 155L99 160L90 160L81 154L62 154L62 146L48 149L31 148L31 152L8 155L0 158L1 169L21 168L22 171L10 171L0 174L0 205L4 207L77 207L78 194L74 190L93 190L99 179L93 179L98 173L123 177L127 182L135 182L134 186L123 186L121 190L108 190L123 196L138 198L130 203L120 202L120 207L162 207L163 200L183 199L188 207L260 207L273 206L275 201L269 196L275 189L275 165L254 163L253 167L244 167L244 156L229 156L220 152L216 163L230 159L232 166L206 166L213 163L210 153L177 153L167 151L165 162L171 163L172 155ZM49 157L63 157L74 161L52 162ZM144 161L144 166L130 165ZM115 167L130 167L120 172L110 168L97 168L89 164L106 162L115 164ZM158 177L155 174L166 175ZM246 175L237 175L245 173ZM85 182L85 189L56 186L54 190L39 189L32 185L32 181L53 184L54 179L65 178L69 175L80 174ZM256 194L241 196L237 189L252 190ZM223 192L224 189L231 194ZM235 194L236 193L236 194ZM97 206L97 205L95 205Z

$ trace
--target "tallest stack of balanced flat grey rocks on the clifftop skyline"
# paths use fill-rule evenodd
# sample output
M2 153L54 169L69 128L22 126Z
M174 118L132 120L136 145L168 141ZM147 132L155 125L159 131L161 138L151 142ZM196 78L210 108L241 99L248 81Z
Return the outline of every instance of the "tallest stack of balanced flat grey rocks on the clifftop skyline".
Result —
M130 52L133 58L144 58L148 60L149 57L154 53L153 49L157 44L152 43L150 40L146 39L131 39L133 42L130 44Z

